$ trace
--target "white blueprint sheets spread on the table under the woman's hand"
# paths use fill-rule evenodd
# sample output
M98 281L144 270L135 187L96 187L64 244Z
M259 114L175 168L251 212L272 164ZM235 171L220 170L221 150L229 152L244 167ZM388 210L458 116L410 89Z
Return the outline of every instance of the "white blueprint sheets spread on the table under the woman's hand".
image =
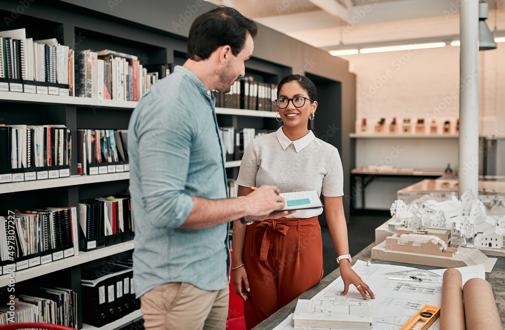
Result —
M360 275L375 294L371 300L373 329L398 330L424 305L440 306L442 297L442 275L445 269L424 270L412 267L385 264L370 264L358 260L352 269ZM457 268L462 273L463 284L474 277L485 279L484 265ZM412 280L412 277L423 281ZM386 279L386 277L393 279ZM355 301L363 300L361 294L352 285L345 296L343 281L338 277L312 299ZM288 316L275 330L291 330L293 317ZM429 330L438 330L438 320Z

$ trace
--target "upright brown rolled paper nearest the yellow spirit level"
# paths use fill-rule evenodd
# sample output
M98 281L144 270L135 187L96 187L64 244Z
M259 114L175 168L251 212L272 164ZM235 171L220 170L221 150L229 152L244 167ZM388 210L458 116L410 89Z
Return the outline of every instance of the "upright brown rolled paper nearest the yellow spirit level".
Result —
M465 330L463 281L458 269L449 268L443 273L440 330Z

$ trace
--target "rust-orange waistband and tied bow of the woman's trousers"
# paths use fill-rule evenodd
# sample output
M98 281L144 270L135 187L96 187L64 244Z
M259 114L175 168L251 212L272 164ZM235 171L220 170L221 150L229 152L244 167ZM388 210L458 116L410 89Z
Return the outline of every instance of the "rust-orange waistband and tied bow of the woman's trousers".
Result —
M319 219L317 216L312 218L279 218L277 220L267 219L261 221L255 226L256 229L264 229L263 239L261 241L260 261L266 261L268 250L272 249L275 231L280 232L283 236L286 235L289 227L296 227L300 231L300 227L317 226ZM299 242L298 242L299 244Z

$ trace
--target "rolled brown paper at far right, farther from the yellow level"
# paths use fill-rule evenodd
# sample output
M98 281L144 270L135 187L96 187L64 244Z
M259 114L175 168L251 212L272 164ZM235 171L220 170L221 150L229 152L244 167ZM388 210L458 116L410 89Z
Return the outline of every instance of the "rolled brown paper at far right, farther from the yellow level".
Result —
M471 278L463 287L467 330L502 330L493 290L482 278Z

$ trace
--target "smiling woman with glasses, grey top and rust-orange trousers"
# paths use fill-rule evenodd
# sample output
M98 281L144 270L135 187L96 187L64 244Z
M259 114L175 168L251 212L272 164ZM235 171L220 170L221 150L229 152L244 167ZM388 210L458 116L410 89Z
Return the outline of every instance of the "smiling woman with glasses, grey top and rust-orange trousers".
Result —
M238 196L251 186L273 184L281 193L315 190L324 196L325 214L338 254L347 294L354 285L364 299L374 294L350 267L342 207L343 173L335 147L308 129L317 109L316 87L291 74L277 88L277 120L283 126L247 146L237 178ZM298 210L278 220L233 224L233 285L244 300L245 325L256 326L323 278L323 208Z

